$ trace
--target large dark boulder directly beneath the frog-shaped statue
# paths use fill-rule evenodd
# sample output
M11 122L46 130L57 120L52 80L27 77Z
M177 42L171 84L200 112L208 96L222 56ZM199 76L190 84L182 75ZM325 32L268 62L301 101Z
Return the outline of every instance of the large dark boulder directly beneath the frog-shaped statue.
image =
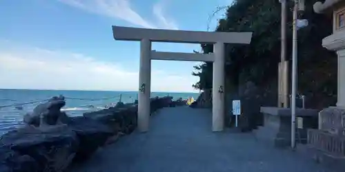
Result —
M0 143L6 149L33 158L38 171L63 171L72 162L79 145L75 132L64 125L44 130L17 129L1 136ZM24 157L25 162L32 161L28 156Z

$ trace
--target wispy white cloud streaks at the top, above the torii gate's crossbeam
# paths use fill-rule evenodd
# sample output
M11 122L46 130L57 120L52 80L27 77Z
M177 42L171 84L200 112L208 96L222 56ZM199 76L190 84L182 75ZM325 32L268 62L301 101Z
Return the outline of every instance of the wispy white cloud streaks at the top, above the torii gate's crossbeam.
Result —
M129 0L58 0L69 6L80 8L95 14L101 14L115 19L127 21L133 25L144 28L163 28L177 30L177 25L168 19L163 13L162 3L153 6L153 14L157 18L153 20L144 19L131 6Z

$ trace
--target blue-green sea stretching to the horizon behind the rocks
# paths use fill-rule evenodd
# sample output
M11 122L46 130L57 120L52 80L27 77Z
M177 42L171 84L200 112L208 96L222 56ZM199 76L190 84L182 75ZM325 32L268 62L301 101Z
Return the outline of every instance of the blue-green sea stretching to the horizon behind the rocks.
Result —
M32 111L41 100L59 95L66 97L66 106L62 111L66 111L68 116L82 116L84 112L115 106L120 98L123 103L134 103L137 99L137 92L0 89L0 135L23 125L23 115ZM155 96L172 96L176 100L188 97L196 99L199 94L152 92L151 97Z

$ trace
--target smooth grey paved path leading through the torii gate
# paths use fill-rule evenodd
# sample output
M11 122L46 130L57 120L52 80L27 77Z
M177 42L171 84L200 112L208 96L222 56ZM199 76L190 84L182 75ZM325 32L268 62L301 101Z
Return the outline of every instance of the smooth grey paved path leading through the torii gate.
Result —
M213 133L211 124L209 109L161 109L151 117L148 133L125 136L71 171L326 171L311 158L275 149L251 133Z

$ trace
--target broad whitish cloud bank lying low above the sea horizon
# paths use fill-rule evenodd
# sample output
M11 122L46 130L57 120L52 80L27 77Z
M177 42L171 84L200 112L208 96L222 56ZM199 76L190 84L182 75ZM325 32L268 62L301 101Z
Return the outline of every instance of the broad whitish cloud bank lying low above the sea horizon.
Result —
M198 78L152 69L152 91L190 92ZM26 89L138 89L138 70L73 52L0 40L0 85Z

